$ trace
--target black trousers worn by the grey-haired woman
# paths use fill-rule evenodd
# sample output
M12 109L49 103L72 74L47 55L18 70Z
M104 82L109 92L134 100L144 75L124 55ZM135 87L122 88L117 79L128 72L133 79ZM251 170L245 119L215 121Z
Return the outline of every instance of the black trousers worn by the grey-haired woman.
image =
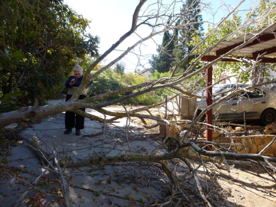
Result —
M67 94L65 101L68 101L72 95ZM80 95L79 99L86 98L86 95ZM80 110L85 111L85 108L81 108ZM65 112L65 128L76 128L83 129L84 128L84 117L76 114L71 111Z

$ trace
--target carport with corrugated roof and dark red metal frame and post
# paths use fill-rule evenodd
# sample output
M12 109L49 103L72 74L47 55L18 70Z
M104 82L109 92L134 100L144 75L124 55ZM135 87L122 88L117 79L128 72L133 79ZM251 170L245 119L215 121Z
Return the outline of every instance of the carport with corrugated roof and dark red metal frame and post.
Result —
M214 55L202 57L203 61L211 63L211 66L207 68L207 107L212 104L213 61L243 62L245 60L254 60L259 63L276 63L276 58L265 57L276 56L276 23L225 41L211 49L210 53ZM212 109L209 109L206 113L207 141L213 140L212 129L210 127L212 125L212 114Z

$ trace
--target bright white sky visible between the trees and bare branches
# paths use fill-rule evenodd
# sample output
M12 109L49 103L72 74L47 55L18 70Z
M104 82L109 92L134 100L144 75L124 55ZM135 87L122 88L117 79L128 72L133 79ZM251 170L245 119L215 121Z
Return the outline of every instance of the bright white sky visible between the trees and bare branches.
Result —
M149 2L153 2L153 0L149 0ZM213 8L220 6L219 0L209 0L207 2L211 2ZM236 6L240 0L224 0L224 2L231 6ZM250 8L252 5L251 2L253 2L253 0L246 0L246 2L243 3L243 8ZM102 54L131 28L132 15L139 0L64 0L64 3L69 5L78 14L82 14L84 18L92 21L90 23L90 29L87 29L87 32L91 33L93 36L98 35L100 37L99 52ZM224 11L219 10L217 19L220 19L223 14ZM202 16L203 20L211 18L209 15L202 14ZM161 44L162 37L163 34L159 37L155 37L156 44ZM130 45L129 42L131 42L131 40L122 44L120 46L121 49L126 49ZM152 40L147 40L145 45L140 49L146 51L150 59L151 54L157 53L156 44ZM107 57L106 61L115 59L121 53L122 52L113 52ZM148 58L142 61L146 68L150 67ZM137 57L134 54L127 55L126 58L123 58L121 61L125 63L125 72L133 72L135 70ZM139 69L143 70L142 67L139 67Z

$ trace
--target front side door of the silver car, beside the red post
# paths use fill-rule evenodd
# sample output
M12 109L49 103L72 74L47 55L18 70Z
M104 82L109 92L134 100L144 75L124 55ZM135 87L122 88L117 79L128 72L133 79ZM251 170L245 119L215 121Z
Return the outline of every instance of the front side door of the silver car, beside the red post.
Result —
M233 86L228 86L225 88L220 89L219 93L222 93L220 97L225 97L232 93L229 91L233 89ZM239 105L238 105L238 96L232 96L231 98L224 100L220 104L213 107L213 115L214 119L217 121L220 120L233 120L236 118L237 114L239 113Z

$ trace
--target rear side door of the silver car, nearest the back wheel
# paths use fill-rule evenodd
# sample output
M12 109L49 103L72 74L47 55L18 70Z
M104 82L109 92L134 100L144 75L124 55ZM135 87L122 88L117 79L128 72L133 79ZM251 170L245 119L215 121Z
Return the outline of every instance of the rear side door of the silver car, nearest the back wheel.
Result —
M268 103L266 94L258 88L242 92L239 99L239 112L243 114L245 111L246 118L258 119L258 113L263 111Z

